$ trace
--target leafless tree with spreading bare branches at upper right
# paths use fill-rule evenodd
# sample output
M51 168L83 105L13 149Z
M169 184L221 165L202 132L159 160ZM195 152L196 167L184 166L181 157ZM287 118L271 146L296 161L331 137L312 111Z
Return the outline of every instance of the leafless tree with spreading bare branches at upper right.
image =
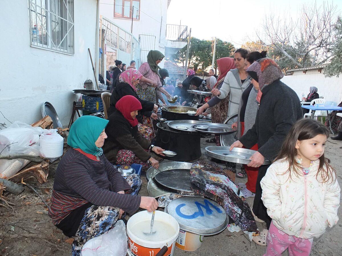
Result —
M289 59L297 68L320 65L331 58L329 49L334 45L334 27L337 6L324 2L317 6L303 5L298 19L285 14L268 14L259 41Z

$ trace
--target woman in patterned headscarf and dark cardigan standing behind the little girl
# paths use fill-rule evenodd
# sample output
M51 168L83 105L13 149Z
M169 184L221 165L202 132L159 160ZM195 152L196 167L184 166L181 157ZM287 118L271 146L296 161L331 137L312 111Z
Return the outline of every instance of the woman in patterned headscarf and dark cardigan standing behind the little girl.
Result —
M261 179L265 176L269 165L262 165L265 159L273 160L280 152L282 142L292 125L303 118L302 108L297 94L280 79L284 76L277 63L269 58L255 61L247 68L252 84L259 90L257 101L259 110L254 126L244 136L231 145L234 147L251 148L258 143L258 151L251 157L250 167L259 167L257 186L255 191L253 213L255 220L266 222L267 229L271 224L271 218L261 200ZM260 236L253 238L258 244L266 245L267 230L263 230Z

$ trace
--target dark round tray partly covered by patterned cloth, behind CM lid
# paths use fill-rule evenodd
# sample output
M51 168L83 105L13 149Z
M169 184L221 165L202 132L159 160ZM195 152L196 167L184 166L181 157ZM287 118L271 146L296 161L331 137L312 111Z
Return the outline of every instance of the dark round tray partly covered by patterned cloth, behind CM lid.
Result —
M153 177L158 188L181 196L202 196L191 187L190 170L166 170Z

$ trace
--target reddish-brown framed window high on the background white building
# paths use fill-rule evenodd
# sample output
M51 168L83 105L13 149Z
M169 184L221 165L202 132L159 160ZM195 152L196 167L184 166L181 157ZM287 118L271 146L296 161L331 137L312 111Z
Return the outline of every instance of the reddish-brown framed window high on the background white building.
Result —
M114 18L140 19L140 0L114 0Z

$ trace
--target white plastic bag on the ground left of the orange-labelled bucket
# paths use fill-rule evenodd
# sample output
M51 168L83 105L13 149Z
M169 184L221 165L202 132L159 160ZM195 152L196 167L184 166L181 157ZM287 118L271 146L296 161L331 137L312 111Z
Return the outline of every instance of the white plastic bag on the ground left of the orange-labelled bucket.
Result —
M81 251L81 256L126 256L127 235L126 226L122 220L115 223L114 227L101 236L94 237L86 242Z

